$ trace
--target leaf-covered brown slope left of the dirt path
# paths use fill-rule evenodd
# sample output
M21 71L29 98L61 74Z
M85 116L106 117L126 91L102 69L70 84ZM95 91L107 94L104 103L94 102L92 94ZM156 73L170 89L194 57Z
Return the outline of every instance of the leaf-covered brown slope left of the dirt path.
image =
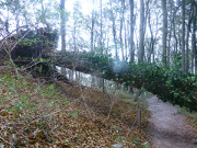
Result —
M148 114L136 124L136 104L96 89L46 82L0 66L1 147L147 148Z

